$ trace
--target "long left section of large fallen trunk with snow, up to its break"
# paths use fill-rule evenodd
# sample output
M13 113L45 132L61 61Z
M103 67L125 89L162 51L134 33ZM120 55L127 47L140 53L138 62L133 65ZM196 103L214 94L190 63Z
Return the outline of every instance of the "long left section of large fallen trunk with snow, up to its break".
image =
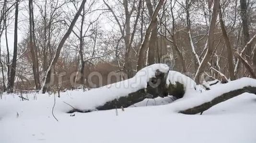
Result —
M162 90L165 87L165 76L169 67L165 64L153 64L141 69L133 78L96 88L73 99L64 101L72 106L66 112L91 112L128 107L143 101L148 96L167 96Z

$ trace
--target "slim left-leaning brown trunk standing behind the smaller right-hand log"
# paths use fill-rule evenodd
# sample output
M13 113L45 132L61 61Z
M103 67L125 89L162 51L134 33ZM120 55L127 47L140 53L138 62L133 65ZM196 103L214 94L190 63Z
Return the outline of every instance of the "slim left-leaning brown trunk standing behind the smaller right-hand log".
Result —
M229 37L228 37L227 31L225 29L225 24L223 22L222 12L221 12L221 5L219 5L219 19L220 19L220 24L221 24L222 35L223 35L223 38L225 40L226 47L227 47L227 52L228 52L228 65L229 65L230 80L233 81L233 80L235 80L234 64L233 64L233 53L232 53L232 48L231 48L231 44L230 44L230 41L229 41Z

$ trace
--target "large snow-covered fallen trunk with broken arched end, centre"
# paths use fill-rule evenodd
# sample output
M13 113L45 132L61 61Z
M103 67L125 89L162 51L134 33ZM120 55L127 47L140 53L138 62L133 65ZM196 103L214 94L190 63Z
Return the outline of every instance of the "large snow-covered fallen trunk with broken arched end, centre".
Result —
M157 68L155 68L156 66ZM85 92L85 94L87 93L87 97L82 97L80 100L76 99L75 101L65 102L72 107L68 113L110 110L121 107L126 108L141 102L146 98L152 99L156 97L166 97L168 95L174 96L175 99L180 99L185 96L186 92L189 93L197 90L196 82L191 78L180 72L168 71L169 68L167 68L167 65L164 65L162 70L160 70L161 66L163 66L163 64L148 66L138 72L139 74L137 73L135 77L128 79L127 81L117 82L112 85ZM149 71L151 71L151 73ZM153 75L151 75L152 72ZM138 88L138 86L141 87L141 84L143 84L141 81L144 81L145 79L143 80L143 78L145 77L150 77L149 80L147 80L148 82L146 82L146 86ZM136 86L133 86L134 83ZM116 87L118 84L121 86ZM124 84L125 86L123 86ZM124 88L127 90L125 93L123 93ZM134 88L136 90L134 90ZM102 94L98 95L97 93L100 92L102 92ZM86 103L86 100L91 100L93 102L93 99L95 98L95 96L93 97L94 93L96 93L95 96L98 96L96 98L99 100L97 100L93 106L86 106L86 104L90 104ZM104 99L105 96L109 97Z

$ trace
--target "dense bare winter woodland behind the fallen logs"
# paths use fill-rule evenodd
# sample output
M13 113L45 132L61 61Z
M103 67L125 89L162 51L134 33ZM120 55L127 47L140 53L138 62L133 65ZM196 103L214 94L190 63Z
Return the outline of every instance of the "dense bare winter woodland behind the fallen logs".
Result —
M0 0L0 12L3 92L99 87L153 63L198 84L256 78L256 0Z

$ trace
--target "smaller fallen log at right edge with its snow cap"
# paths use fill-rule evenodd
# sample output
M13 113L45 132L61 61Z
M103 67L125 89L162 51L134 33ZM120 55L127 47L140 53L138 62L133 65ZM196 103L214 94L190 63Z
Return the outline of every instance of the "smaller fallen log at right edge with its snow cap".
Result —
M209 91L193 93L193 96L181 98L168 104L168 109L173 112L185 114L197 114L208 110L210 107L241 95L244 92L256 94L256 80L251 78L241 78L226 84L215 85Z

